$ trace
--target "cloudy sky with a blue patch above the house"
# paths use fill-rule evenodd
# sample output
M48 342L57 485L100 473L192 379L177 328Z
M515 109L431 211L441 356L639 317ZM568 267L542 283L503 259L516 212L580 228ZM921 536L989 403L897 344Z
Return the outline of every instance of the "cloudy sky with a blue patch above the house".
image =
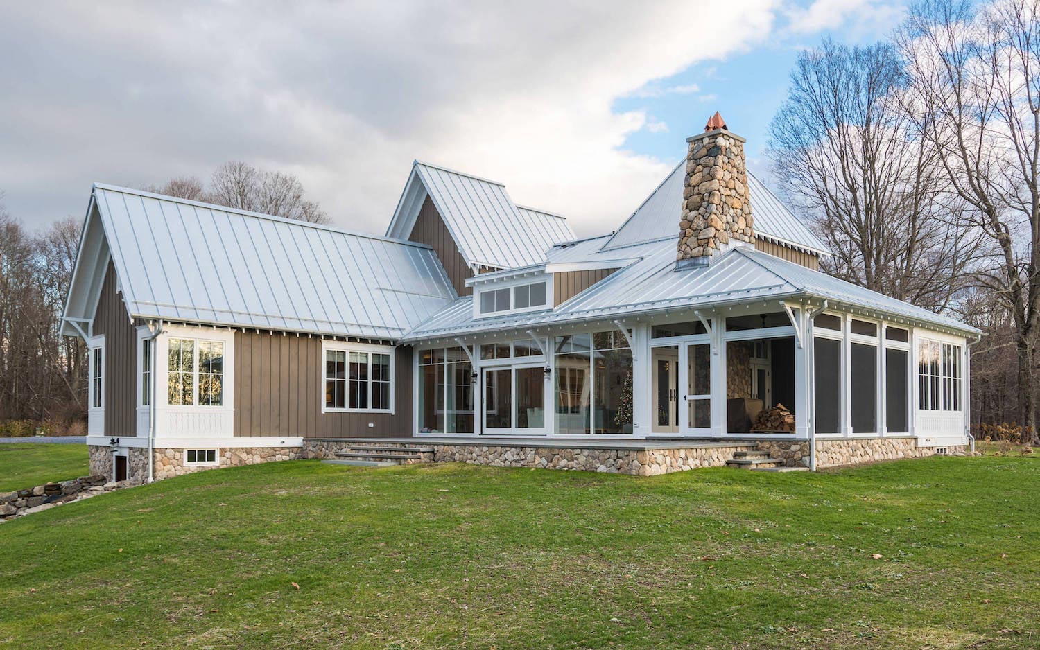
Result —
M763 167L798 51L875 40L904 10L610 5L5 3L2 202L36 228L82 216L95 181L205 179L236 159L295 174L336 225L382 233L418 158L606 232L716 110Z

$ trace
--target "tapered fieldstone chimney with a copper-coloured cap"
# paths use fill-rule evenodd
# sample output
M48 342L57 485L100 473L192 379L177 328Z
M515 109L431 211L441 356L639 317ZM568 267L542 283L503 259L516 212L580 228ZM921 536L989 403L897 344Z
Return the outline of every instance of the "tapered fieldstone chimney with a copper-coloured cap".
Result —
M679 266L707 264L733 243L753 244L745 139L718 112L704 133L686 138L686 182L679 222Z

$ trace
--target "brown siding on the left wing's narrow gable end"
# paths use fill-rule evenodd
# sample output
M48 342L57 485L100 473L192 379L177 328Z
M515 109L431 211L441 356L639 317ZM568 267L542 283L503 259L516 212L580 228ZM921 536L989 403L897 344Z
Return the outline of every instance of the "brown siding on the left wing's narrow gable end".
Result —
M105 335L104 405L105 436L137 435L137 330L130 320L115 284L111 261L105 270L94 335Z

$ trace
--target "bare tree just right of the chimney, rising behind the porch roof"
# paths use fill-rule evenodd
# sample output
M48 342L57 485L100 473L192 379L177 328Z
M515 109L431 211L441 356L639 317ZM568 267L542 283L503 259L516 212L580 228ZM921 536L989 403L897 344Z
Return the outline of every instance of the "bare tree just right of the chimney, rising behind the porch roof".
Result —
M895 101L903 80L890 45L828 40L803 52L770 127L770 155L834 253L825 270L939 311L963 286L980 239Z

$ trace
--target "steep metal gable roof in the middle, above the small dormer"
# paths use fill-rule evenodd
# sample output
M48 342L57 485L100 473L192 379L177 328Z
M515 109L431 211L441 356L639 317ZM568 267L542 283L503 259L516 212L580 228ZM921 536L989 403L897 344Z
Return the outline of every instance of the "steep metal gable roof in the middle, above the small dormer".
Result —
M517 268L538 264L545 261L546 251L554 243L574 239L566 218L518 208L501 183L418 160L412 165L412 175L387 229L388 236L408 237L426 194L471 266Z

